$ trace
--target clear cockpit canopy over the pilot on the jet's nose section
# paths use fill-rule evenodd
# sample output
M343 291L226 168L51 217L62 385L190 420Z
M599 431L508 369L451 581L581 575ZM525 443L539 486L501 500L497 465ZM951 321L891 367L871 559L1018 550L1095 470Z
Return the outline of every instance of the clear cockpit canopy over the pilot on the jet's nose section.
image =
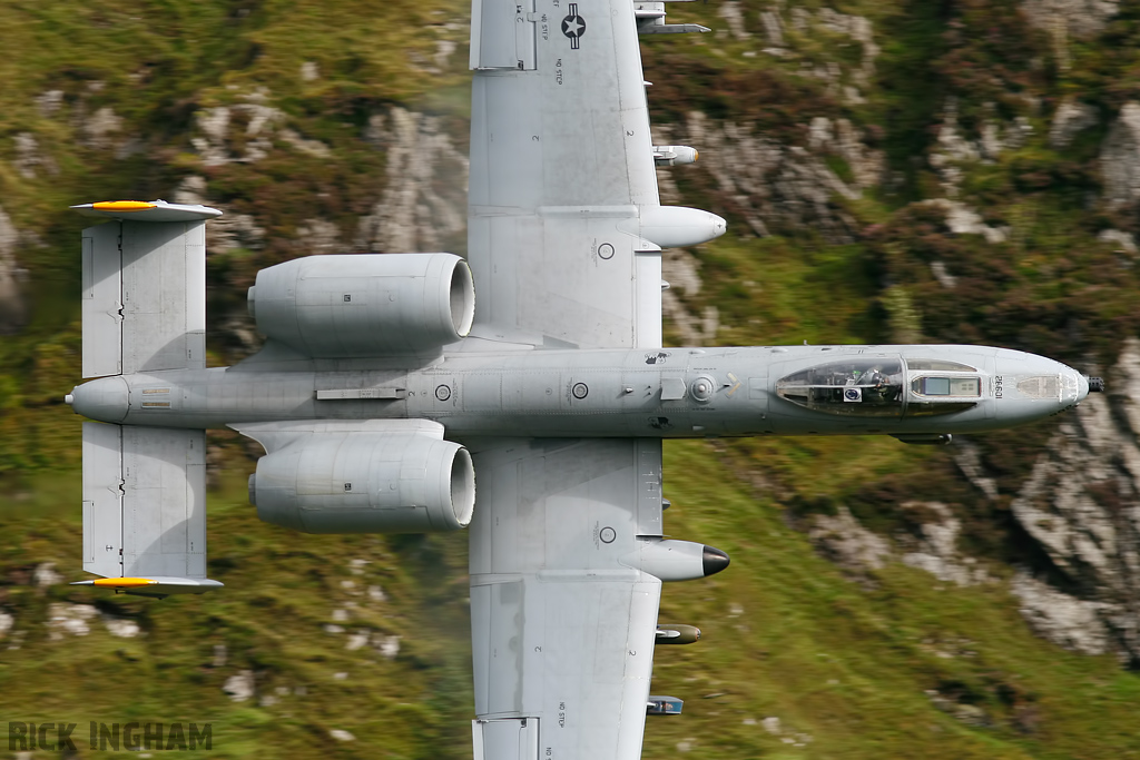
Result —
M776 395L800 407L852 417L929 417L971 409L982 397L977 369L956 361L853 357L776 381ZM907 392L909 391L909 392Z

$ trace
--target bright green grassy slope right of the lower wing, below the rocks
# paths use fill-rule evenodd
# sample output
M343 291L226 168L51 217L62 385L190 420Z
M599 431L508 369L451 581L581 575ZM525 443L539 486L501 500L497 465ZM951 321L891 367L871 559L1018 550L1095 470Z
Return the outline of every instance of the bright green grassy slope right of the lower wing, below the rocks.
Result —
M724 758L1140 757L1140 679L1112 657L1035 638L1003 586L959 589L904 566L870 590L845 580L724 463L707 443L666 447L667 531L733 565L665 588L661 620L705 637L658 652L653 690L685 698L686 714L649 721L646 758L679 745Z

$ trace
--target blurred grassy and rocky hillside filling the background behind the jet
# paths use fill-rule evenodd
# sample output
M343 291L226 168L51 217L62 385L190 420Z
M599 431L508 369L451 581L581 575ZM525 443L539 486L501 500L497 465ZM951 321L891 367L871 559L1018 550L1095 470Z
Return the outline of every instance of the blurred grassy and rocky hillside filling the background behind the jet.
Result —
M666 589L706 639L659 653L654 688L686 716L651 721L645 757L1140 757L1140 2L679 6L714 32L643 40L656 141L701 154L660 171L662 201L730 232L667 252L670 343L986 343L1109 392L937 450L670 444L669 532L735 562ZM470 757L463 536L263 525L251 450L219 434L223 595L78 594L59 401L79 375L70 204L226 212L218 365L259 344L260 268L463 253L467 7L60 0L0 5L0 704L212 720L217 757Z

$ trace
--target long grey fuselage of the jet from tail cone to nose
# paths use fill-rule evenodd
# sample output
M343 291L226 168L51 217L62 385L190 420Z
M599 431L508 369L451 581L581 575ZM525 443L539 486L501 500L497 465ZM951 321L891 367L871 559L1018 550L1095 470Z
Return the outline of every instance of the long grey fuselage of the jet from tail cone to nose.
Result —
M269 361L105 377L76 412L210 428L302 419L431 419L447 436L703 438L964 433L1072 408L1089 392L1043 357L968 345L445 352Z

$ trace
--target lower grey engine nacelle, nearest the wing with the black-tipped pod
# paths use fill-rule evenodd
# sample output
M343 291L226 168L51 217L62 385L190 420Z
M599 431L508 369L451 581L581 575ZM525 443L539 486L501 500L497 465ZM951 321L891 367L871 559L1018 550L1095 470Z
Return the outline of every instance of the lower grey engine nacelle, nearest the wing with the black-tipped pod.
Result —
M458 443L432 432L306 427L239 426L269 451L250 476L261 520L306 533L433 533L471 522L474 468Z

